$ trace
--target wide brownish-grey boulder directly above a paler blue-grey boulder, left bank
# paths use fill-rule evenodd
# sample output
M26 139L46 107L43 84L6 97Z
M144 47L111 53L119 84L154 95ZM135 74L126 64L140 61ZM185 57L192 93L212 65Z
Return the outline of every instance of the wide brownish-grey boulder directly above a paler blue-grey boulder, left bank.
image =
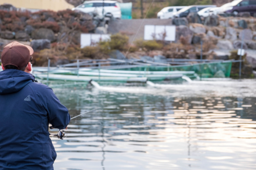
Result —
M39 28L35 29L31 34L32 39L49 39L51 42L55 40L52 29Z

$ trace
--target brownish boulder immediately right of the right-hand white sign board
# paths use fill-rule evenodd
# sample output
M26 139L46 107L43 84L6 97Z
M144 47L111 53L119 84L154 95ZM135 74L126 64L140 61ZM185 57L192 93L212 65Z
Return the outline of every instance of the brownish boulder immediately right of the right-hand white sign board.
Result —
M191 44L193 38L193 31L191 31L186 25L180 25L176 27L176 41L180 40L183 36L188 44Z

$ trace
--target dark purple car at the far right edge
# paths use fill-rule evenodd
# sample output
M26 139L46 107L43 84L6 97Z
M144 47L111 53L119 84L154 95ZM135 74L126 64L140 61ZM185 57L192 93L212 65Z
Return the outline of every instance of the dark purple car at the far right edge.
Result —
M256 13L256 0L234 0L226 10L226 13L234 15L239 12L250 12L251 15Z

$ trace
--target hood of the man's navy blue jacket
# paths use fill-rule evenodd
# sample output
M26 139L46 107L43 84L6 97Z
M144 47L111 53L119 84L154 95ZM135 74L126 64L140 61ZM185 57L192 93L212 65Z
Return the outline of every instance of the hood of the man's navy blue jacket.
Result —
M18 92L30 82L34 82L32 74L15 69L0 72L0 94Z

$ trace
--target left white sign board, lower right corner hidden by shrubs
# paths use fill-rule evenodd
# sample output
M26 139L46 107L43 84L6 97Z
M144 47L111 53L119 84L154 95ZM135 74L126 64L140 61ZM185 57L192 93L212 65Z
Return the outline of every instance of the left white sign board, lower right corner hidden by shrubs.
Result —
M100 41L106 41L110 39L110 34L81 34L81 48L86 46L94 46Z

